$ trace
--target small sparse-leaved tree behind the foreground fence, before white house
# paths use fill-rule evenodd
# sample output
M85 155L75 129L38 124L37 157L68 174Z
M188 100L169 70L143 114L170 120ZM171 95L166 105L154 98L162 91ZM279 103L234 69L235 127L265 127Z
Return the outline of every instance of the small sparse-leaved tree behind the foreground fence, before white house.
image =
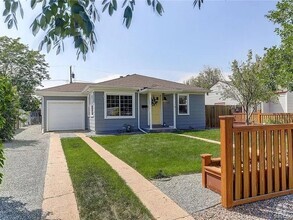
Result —
M263 79L263 66L262 59L255 56L253 61L252 51L249 51L246 62L233 61L230 81L223 87L223 97L234 99L242 106L247 125L256 106L271 101L276 96Z

